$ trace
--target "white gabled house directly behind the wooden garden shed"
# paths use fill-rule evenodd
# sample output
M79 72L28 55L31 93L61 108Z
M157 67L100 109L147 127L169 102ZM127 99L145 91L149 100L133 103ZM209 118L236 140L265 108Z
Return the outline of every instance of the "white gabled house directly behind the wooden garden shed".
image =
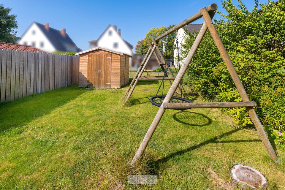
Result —
M95 40L89 41L89 49L94 47L103 47L109 50L125 53L129 56L133 55L133 46L121 37L121 29L118 29L116 25L107 26L103 33ZM132 63L132 59L129 59Z

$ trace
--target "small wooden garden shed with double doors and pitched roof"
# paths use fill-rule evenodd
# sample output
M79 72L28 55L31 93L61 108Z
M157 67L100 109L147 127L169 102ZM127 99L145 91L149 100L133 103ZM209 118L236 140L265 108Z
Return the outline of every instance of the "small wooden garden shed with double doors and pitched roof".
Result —
M79 55L79 87L121 88L129 83L129 55L95 47Z

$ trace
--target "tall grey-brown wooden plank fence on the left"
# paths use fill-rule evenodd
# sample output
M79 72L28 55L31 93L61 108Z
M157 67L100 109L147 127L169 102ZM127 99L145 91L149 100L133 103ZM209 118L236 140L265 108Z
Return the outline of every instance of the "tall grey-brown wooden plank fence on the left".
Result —
M0 49L1 102L78 82L78 56Z

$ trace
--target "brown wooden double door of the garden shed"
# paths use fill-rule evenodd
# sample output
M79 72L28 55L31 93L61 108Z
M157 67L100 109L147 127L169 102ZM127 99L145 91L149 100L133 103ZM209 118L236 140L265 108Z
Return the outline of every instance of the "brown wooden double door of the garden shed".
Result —
M111 88L111 54L88 54L88 87Z

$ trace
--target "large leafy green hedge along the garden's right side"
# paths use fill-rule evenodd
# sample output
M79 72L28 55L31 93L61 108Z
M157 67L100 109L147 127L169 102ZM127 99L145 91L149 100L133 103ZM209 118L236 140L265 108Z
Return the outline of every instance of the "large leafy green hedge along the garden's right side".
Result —
M285 16L284 0L275 4L255 2L252 12L239 1L222 2L227 15L215 20L216 29L229 53L249 98L257 102L257 114L268 131L285 131ZM262 11L257 12L258 6ZM187 34L183 56L197 34ZM187 71L188 84L204 97L217 101L242 101L209 32ZM227 108L241 126L252 125L245 108Z

